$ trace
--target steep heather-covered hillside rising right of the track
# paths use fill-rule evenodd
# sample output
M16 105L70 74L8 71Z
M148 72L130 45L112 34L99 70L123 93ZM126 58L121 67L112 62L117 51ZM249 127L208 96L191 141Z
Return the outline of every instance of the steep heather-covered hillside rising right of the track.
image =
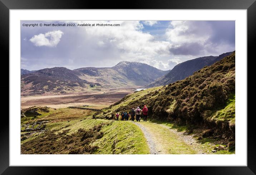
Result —
M235 52L184 80L129 94L94 117L110 118L144 104L153 119L187 125L191 131L205 127L211 129L206 135L235 140Z

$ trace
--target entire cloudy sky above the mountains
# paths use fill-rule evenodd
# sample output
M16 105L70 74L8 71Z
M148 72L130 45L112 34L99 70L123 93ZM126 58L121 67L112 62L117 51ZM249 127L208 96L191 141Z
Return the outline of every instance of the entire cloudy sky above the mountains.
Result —
M112 67L120 61L171 70L187 60L234 50L235 21L21 21L21 68L30 71Z

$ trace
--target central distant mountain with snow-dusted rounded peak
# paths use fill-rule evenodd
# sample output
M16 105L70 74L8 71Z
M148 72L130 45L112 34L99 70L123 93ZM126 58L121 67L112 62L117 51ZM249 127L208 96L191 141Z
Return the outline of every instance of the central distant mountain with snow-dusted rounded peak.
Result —
M85 67L74 71L83 73L81 79L97 82L105 88L144 86L168 72L145 63L129 61L121 61L113 67Z

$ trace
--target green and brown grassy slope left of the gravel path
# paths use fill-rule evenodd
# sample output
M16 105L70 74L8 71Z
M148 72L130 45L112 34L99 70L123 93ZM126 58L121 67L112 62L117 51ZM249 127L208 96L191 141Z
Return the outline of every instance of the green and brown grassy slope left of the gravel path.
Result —
M95 111L30 107L21 111L21 154L149 154L131 122L92 119Z

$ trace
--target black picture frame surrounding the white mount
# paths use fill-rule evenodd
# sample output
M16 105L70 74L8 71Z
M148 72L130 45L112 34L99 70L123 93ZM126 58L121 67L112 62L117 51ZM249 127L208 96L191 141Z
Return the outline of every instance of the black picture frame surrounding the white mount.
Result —
M9 10L10 9L247 9L247 166L208 166L208 167L172 167L172 172L179 170L184 173L188 170L189 174L256 174L256 140L255 124L252 111L253 99L255 99L256 83L255 73L252 71L255 66L253 61L254 46L256 42L256 0L129 0L129 1L68 1L68 0L0 0L0 35L1 35L1 57L3 60L9 58ZM18 42L18 41L17 41ZM246 58L244 58L246 59ZM7 66L8 65L8 66ZM6 61L2 68L9 68ZM1 92L6 95L9 92L9 76L4 74L3 81L0 83ZM4 83L3 83L4 82ZM2 96L3 97L3 96ZM251 103L249 103L251 101ZM8 97L9 102L9 97ZM7 104L2 107L7 109ZM11 104L9 104L11 105ZM9 106L8 106L9 109ZM6 112L8 110L5 110ZM58 174L67 174L66 167L19 167L9 166L9 113L1 116L0 127L0 174L51 174L58 169ZM246 117L246 116L239 116ZM192 161L192 160L191 160ZM76 168L79 172L83 167ZM167 167L167 169L170 169ZM87 167L87 170L98 173L99 168ZM104 167L105 172L113 172L112 167ZM114 170L115 171L115 170ZM151 171L151 168L143 169L144 173ZM133 170L125 168L122 174L132 173ZM118 172L117 172L118 173ZM130 174L129 173L129 174Z

